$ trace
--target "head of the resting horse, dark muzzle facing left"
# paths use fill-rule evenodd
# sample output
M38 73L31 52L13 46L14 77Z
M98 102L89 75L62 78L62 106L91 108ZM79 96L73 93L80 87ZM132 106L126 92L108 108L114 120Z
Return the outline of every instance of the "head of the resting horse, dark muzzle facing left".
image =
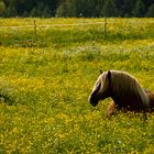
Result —
M102 73L92 89L92 92L89 97L89 102L92 106L97 106L99 100L103 100L105 98L110 97L110 85L111 84L111 72Z

